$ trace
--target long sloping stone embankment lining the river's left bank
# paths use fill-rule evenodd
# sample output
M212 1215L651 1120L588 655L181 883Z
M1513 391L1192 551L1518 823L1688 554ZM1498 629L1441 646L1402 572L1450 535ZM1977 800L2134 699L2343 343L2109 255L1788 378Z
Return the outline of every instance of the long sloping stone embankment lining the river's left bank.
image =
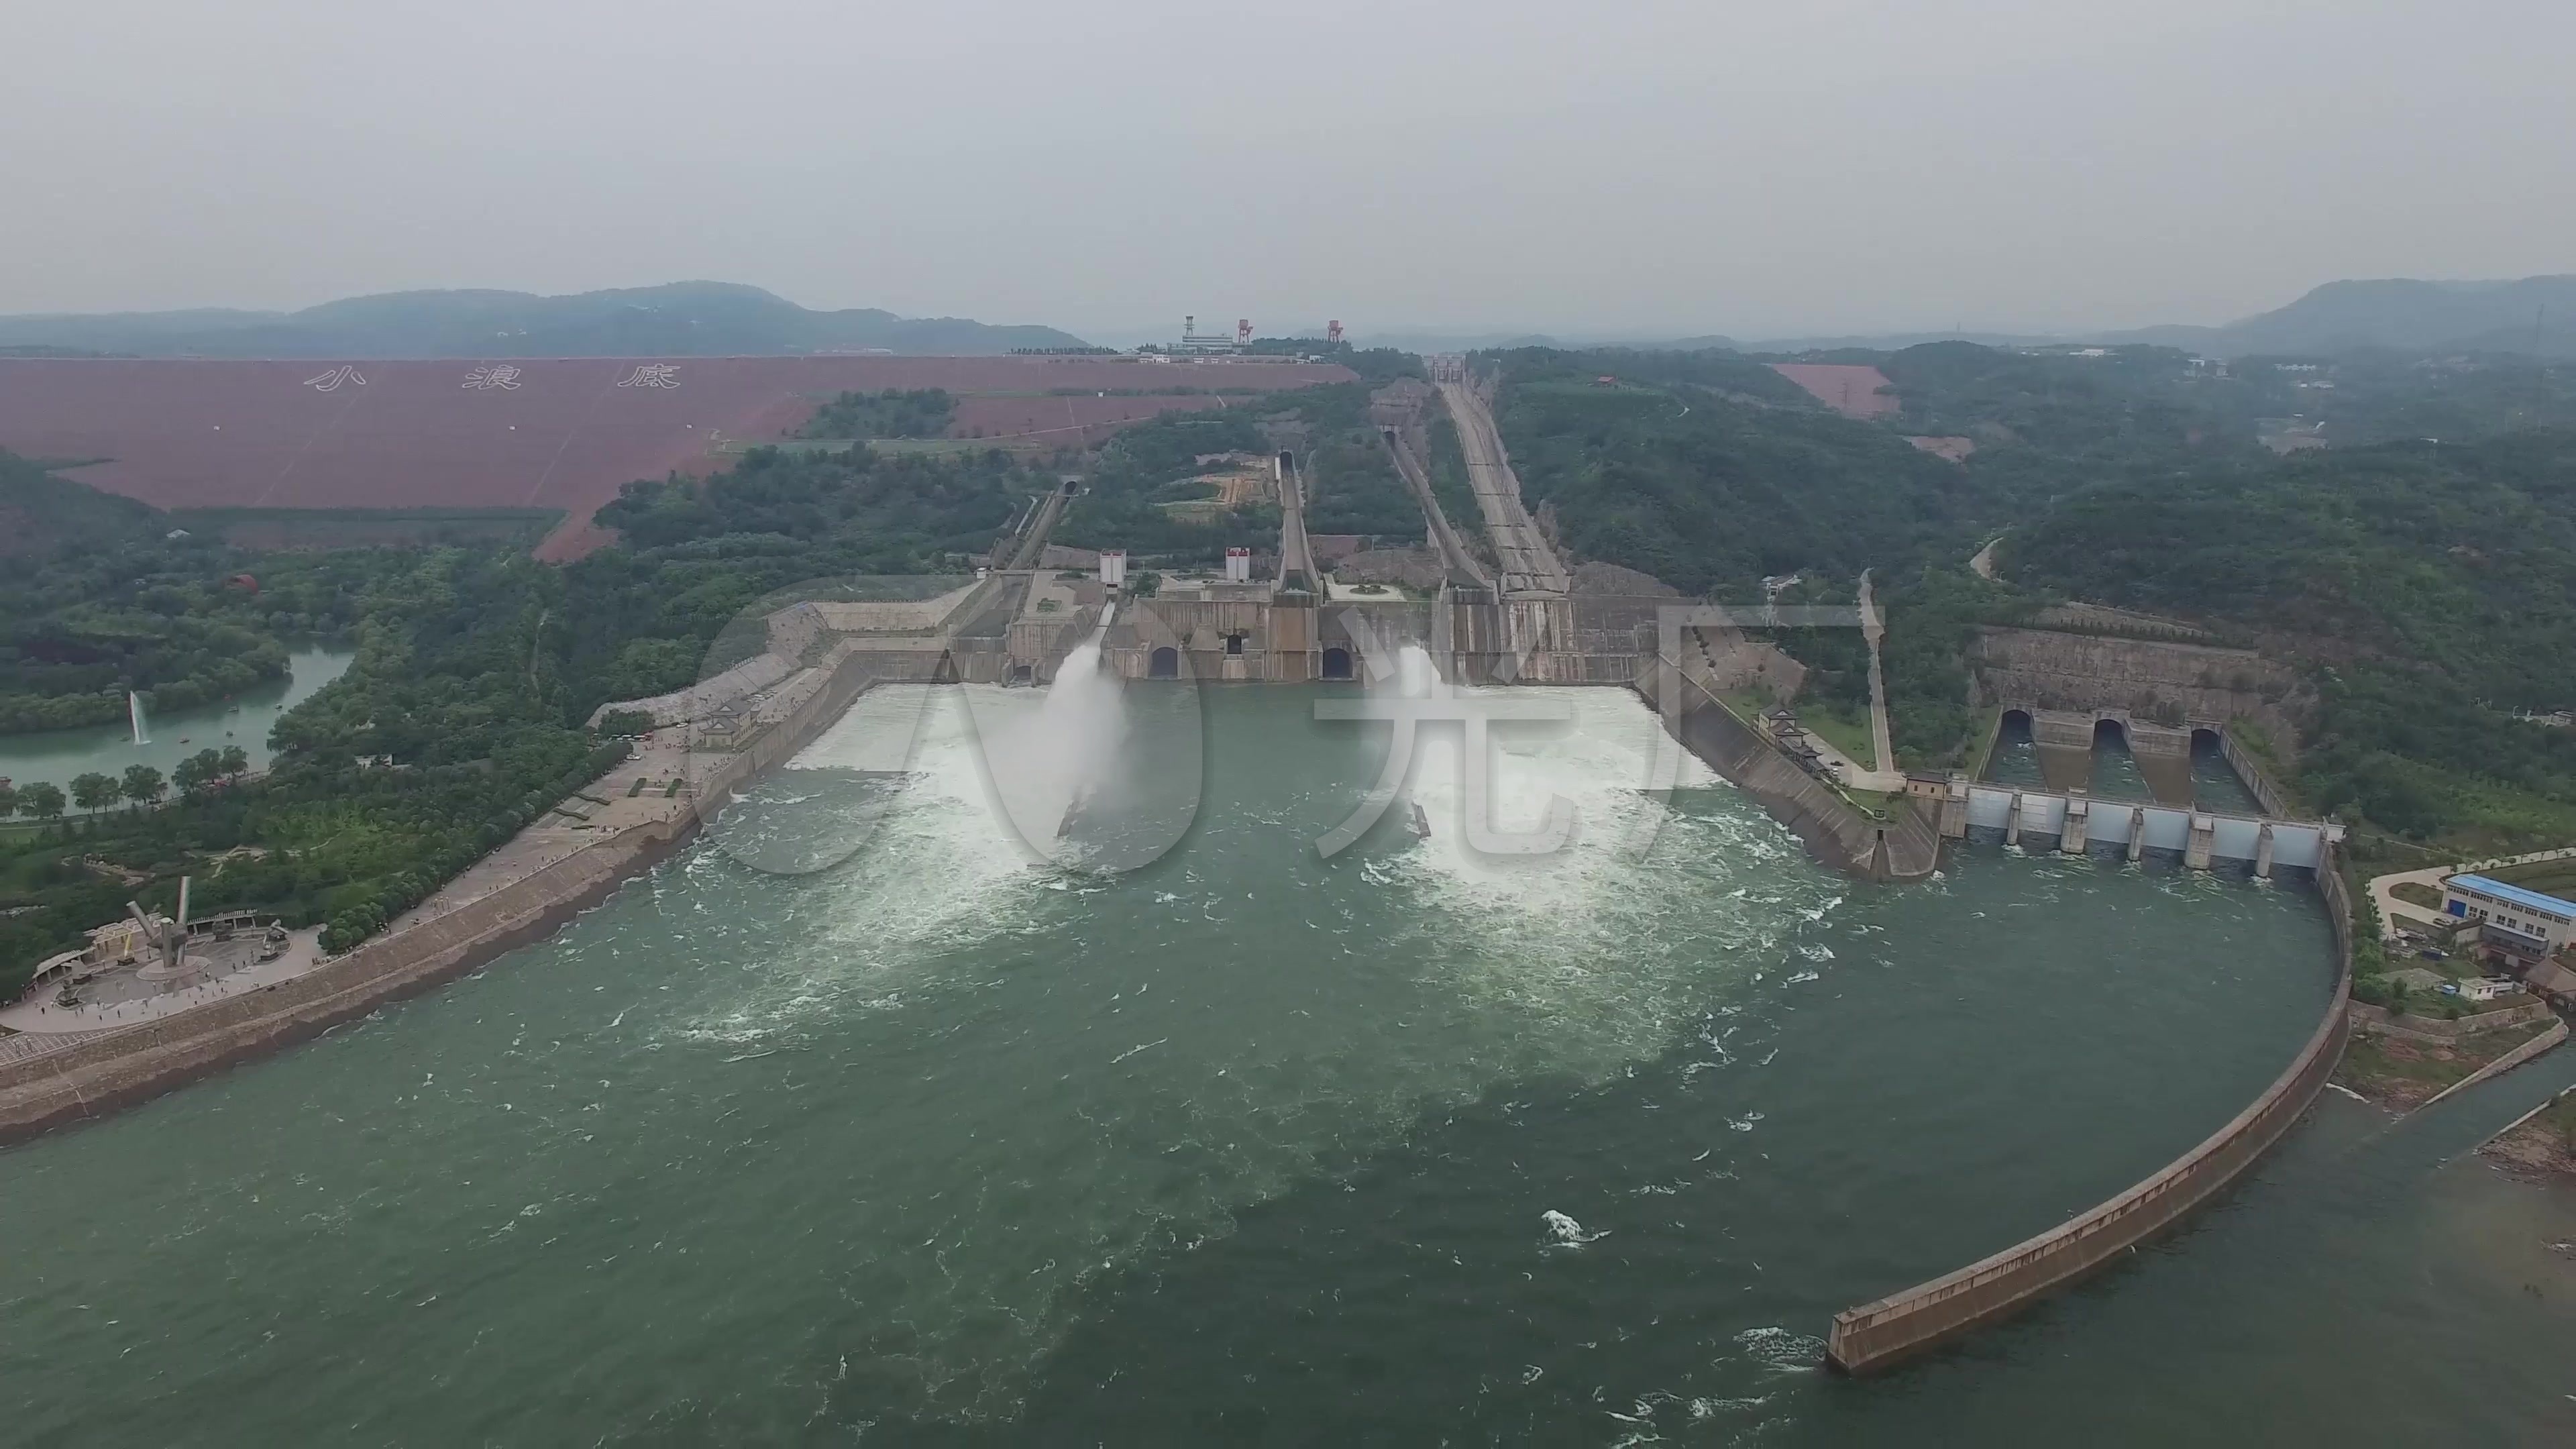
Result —
M451 910L263 990L0 1065L0 1142L106 1116L234 1062L309 1042L392 1000L544 941L677 851L732 789L791 758L878 678L930 678L938 655L837 642L762 709L739 748L690 755L688 794ZM621 773L626 766L618 766ZM533 830L533 828L531 828ZM502 851L510 851L505 846Z

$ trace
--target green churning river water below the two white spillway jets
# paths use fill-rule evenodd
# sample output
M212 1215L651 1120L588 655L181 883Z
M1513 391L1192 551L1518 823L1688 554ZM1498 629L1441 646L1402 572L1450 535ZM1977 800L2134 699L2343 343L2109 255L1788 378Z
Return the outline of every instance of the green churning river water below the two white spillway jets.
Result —
M1036 691L876 691L556 938L0 1155L5 1439L2576 1436L2576 1209L2460 1160L2550 1062L2329 1096L2133 1266L1824 1377L1834 1310L2277 1075L2316 895L1999 846L1852 884L1708 776L1641 794L1618 691L1507 735L1499 822L1561 797L1571 848L1461 851L1435 735L1430 838L1327 859L1388 740L1340 696L1131 688L1066 784L989 763Z

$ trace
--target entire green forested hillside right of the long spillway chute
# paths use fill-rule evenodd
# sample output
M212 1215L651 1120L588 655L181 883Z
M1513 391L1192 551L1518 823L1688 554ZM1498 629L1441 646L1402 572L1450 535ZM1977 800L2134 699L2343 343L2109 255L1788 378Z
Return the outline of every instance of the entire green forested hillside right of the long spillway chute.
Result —
M2081 598L2205 621L2300 670L2316 709L2282 768L2365 833L2458 848L2576 838L2576 369L2532 358L2239 364L2174 348L1929 343L1801 361L1880 369L1862 423L1734 353L1489 353L1533 505L1574 559L1690 593L1847 601L1878 570L1909 766L1953 766L1976 719L1978 624ZM2331 449L2275 456L2306 410ZM2439 428L2439 433L2419 433ZM1965 438L1945 462L1909 436ZM2439 441L2432 441L2439 438ZM2004 534L2002 585L1968 554ZM1811 694L1857 706L1847 642L1783 639ZM1850 657L1844 657L1850 655Z

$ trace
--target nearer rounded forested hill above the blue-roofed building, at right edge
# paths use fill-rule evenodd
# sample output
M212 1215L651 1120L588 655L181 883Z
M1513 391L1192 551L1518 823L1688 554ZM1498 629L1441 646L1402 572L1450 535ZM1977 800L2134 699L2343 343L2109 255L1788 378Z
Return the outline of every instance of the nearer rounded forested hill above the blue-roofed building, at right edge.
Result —
M2406 835L2576 835L2576 433L2202 467L2061 500L2025 588L2236 624L2318 678L2300 784ZM2563 843L2563 841L2561 841Z

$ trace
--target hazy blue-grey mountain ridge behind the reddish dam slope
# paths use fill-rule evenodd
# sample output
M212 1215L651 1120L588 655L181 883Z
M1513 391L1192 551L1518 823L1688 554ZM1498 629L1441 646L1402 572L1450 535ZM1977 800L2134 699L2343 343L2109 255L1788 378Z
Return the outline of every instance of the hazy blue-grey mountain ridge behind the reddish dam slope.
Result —
M386 291L301 312L103 312L0 317L5 353L204 358L572 358L793 356L889 351L987 356L1079 348L1054 327L896 317L873 307L809 312L757 286L675 281L572 297Z

